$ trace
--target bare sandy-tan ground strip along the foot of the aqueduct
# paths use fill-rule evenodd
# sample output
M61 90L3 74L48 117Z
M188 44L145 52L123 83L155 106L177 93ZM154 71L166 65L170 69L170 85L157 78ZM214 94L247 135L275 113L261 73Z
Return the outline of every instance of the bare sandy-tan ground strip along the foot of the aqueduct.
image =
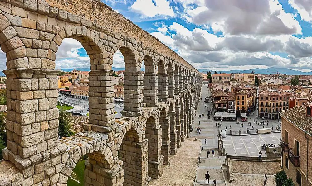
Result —
M149 186L193 186L200 147L199 141L185 138L177 154L170 157L170 165L163 166L163 176L151 179Z

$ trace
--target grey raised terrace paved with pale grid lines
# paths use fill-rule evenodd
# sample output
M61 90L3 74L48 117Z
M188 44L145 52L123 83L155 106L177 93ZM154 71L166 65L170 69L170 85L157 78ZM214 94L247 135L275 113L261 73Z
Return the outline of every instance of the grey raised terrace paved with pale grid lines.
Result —
M227 136L223 138L224 146L228 154L258 155L263 144L280 143L281 133L256 134L245 136ZM264 155L265 151L262 151Z

